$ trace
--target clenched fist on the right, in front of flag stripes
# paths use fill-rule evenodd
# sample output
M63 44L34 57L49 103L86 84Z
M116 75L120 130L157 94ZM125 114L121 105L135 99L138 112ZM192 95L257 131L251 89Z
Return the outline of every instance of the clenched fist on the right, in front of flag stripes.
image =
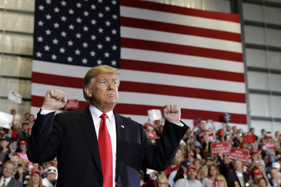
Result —
M163 109L163 118L168 122L180 124L179 120L181 119L181 107L176 104L165 105Z

